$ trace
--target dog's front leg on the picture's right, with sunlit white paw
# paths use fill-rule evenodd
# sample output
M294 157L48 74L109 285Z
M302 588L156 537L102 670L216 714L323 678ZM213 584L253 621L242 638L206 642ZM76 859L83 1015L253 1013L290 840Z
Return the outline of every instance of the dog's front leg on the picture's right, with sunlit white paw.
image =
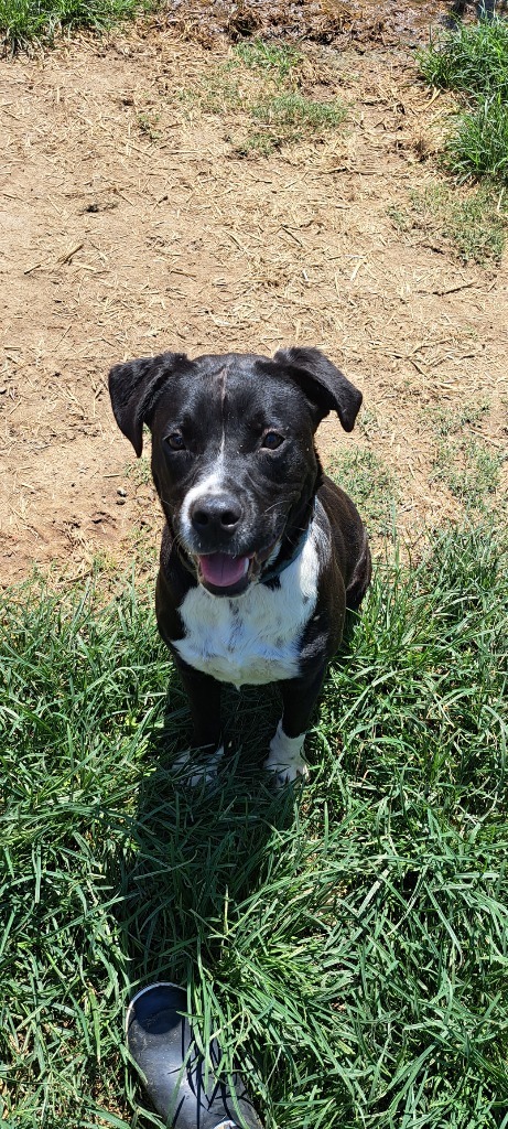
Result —
M281 682L282 717L270 742L270 753L264 768L275 774L277 784L283 785L307 776L308 769L303 756L305 735L316 703L326 664L313 672L309 679L289 679Z

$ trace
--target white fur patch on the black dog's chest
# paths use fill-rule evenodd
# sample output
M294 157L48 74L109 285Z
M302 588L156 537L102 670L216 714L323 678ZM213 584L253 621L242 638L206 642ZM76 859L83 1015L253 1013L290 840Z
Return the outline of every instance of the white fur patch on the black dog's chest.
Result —
M236 686L295 677L301 634L316 606L316 534L309 531L279 588L255 584L231 599L201 585L191 588L178 609L185 636L173 644L182 658Z

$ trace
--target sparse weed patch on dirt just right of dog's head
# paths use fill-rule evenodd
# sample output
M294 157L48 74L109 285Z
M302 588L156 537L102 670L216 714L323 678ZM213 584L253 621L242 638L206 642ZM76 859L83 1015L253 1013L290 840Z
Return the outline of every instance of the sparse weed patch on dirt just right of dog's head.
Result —
M334 455L326 473L351 496L370 533L386 535L393 532L393 510L398 492L392 472L374 450L356 447Z

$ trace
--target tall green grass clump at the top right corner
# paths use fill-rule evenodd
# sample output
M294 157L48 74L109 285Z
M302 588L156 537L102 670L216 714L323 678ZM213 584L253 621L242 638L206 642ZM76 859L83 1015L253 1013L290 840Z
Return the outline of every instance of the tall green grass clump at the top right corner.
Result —
M459 180L508 181L508 24L481 19L462 25L431 43L419 55L432 86L462 94L458 115L446 149L446 163Z

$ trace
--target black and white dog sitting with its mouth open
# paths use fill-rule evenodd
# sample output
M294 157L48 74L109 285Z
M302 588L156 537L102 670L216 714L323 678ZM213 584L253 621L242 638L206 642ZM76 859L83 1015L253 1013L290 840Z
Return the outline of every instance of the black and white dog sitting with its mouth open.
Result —
M156 610L189 694L196 749L222 754L222 682L279 682L283 712L264 762L305 773L305 733L326 666L370 579L361 519L323 475L314 445L361 393L317 349L189 360L167 352L110 374L116 422L151 469L163 504Z

